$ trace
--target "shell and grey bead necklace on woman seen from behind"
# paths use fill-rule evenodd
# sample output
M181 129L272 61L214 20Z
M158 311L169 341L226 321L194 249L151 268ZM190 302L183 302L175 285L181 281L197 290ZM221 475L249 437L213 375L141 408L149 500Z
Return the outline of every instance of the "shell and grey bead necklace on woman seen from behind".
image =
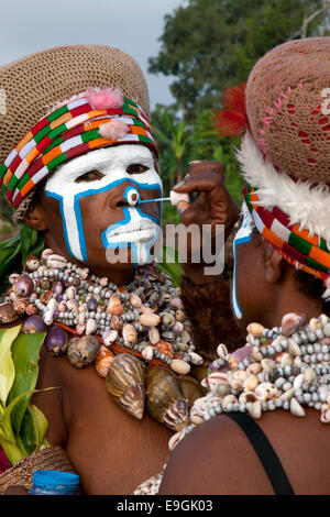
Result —
M330 318L311 318L305 327L302 322L290 312L279 328L251 323L246 344L233 353L220 343L218 359L201 382L208 393L195 400L190 424L170 438L169 449L222 413L248 413L257 419L282 408L304 417L308 406L321 413L322 424L330 424Z

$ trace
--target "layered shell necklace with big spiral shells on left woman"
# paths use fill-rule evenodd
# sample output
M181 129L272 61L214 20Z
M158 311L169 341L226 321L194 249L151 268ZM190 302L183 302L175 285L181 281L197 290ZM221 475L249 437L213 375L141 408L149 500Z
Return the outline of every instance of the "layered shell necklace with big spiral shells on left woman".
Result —
M154 264L117 286L45 250L9 280L0 321L30 316L24 332L46 331L48 351L66 352L78 369L94 362L108 392L134 417L142 418L146 398L148 413L170 429L189 421L189 407L204 391L184 376L204 360L190 339L180 289Z

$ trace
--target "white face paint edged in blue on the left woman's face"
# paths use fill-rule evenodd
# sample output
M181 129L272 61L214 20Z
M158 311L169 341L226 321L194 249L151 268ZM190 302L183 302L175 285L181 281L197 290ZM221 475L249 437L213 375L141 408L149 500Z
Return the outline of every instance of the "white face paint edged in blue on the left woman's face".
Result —
M132 164L141 164L147 170L139 174L128 174L127 168ZM79 176L97 169L105 176L92 182L76 180ZM63 220L64 237L68 252L78 261L88 262L84 226L80 210L80 198L109 190L123 182L130 182L124 198L130 200L132 187L160 190L162 197L162 180L154 168L151 151L139 144L122 144L90 151L77 158L64 163L46 183L46 196L58 199ZM143 213L136 207L123 208L124 218L111 224L101 234L105 249L131 246L134 263L142 264L150 256L150 248L155 242L161 221Z

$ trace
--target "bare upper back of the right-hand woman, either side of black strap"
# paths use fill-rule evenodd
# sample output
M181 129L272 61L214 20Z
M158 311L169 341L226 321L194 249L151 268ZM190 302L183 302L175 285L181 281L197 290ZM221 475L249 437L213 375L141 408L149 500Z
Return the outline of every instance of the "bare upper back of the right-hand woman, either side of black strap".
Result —
M329 494L329 427L318 411L264 414L257 422L273 446L296 494ZM228 416L197 427L173 451L161 494L274 494L244 431Z

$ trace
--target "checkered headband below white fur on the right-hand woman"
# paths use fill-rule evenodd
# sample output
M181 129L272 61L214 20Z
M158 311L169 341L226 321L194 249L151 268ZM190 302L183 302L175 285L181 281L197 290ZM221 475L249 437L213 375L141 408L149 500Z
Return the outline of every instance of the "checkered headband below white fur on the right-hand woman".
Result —
M246 184L243 195L258 232L287 262L317 278L328 278L330 253L323 239L310 235L299 224L290 224L278 207L267 210L261 206L257 188Z

